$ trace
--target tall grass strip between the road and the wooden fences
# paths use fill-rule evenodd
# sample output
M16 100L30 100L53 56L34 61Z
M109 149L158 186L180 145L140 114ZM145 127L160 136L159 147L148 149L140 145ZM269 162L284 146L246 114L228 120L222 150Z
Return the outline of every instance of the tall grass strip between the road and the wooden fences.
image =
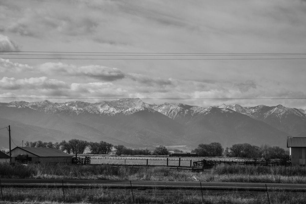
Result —
M164 180L305 184L306 169L300 166L216 165L192 172L161 167L129 168L112 165L9 165L0 163L0 178Z

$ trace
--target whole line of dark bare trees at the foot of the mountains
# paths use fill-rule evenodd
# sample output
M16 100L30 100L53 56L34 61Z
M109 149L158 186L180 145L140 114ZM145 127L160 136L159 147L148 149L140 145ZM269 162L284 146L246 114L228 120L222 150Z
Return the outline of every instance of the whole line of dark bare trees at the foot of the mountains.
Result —
M89 147L91 154L110 154L114 147L117 155L168 155L169 151L165 146L156 147L153 152L148 149L130 149L123 145L113 146L111 143L105 141L87 142L80 139L63 140L62 142L43 142L41 140L24 143L25 147L49 147L56 148L67 152L68 154L83 154L85 149ZM176 150L176 152L179 150ZM224 150L222 145L218 142L210 144L199 144L197 148L192 150L200 157L242 157L257 161L263 159L270 161L271 159L288 157L289 153L283 148L272 147L271 145L262 145L261 147L251 145L248 143L233 144L232 147Z

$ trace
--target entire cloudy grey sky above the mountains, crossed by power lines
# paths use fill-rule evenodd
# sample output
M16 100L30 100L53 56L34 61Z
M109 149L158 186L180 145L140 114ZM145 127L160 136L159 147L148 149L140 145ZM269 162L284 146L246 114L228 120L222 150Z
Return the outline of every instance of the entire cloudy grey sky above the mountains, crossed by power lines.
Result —
M0 102L306 109L305 22L302 0L3 0Z

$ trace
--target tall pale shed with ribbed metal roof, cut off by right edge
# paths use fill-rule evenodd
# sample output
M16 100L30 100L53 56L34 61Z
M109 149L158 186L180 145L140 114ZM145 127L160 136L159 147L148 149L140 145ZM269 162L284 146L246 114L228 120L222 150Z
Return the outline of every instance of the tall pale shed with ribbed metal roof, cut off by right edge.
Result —
M287 137L292 165L306 165L306 137Z

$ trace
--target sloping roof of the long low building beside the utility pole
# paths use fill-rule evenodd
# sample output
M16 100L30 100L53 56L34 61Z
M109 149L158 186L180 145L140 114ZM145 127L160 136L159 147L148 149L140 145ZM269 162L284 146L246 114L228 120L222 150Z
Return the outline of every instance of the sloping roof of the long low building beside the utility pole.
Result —
M35 154L39 157L72 157L70 154L62 152L56 148L47 148L47 147L15 147L25 150L29 153ZM12 151L14 150L12 149Z

